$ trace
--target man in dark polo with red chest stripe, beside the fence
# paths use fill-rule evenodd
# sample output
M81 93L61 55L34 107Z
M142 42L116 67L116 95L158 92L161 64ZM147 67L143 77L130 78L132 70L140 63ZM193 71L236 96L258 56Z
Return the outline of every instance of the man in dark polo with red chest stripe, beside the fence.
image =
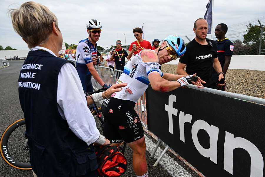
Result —
M215 27L215 32L214 32L215 37L217 38L215 42L217 46L218 60L223 69L224 76L226 75L234 50L233 42L231 42L229 39L226 38L227 30L228 30L227 25L224 23L220 23ZM218 74L214 70L213 70L212 79L213 81L215 81L215 83L217 83ZM226 85L222 87L217 86L217 89L225 91Z

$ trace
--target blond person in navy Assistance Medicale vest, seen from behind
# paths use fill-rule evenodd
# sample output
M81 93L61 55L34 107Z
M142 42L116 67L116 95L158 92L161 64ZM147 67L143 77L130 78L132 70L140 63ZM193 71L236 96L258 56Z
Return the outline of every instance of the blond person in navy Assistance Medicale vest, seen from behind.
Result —
M26 122L34 176L98 176L93 147L110 141L100 135L74 64L59 58L62 33L57 17L42 4L10 9L14 30L31 51L19 74L19 101ZM109 98L126 84L93 94Z

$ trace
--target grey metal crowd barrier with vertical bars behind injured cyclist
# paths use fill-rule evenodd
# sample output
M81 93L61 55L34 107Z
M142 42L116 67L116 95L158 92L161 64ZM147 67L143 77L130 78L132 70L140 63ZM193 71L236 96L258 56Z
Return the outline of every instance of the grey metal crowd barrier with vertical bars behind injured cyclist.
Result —
M123 71L115 69L113 71L112 68L105 67L105 66L95 66L95 69L97 70L100 78L104 81L106 84L115 84L122 74ZM97 81L92 77L92 85L95 90L101 89L102 86L97 83ZM143 127L145 127L147 131L147 112L146 112L146 105L145 105L145 97L142 96L143 100L138 100L137 103L134 106L135 111L139 115L139 118L141 119ZM143 108L141 106L143 104Z

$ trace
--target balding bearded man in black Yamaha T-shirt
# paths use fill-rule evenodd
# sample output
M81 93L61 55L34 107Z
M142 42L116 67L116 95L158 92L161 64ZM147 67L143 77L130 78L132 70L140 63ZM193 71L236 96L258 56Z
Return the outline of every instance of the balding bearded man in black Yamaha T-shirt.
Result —
M212 67L218 73L218 80L224 85L223 71L217 58L216 44L213 40L206 38L208 23L205 19L199 18L194 22L194 33L196 37L187 45L185 54L179 59L177 73L190 75L197 73L203 82L204 87L216 89L216 83L211 79ZM184 71L185 66L186 72ZM190 73L190 74L189 74Z

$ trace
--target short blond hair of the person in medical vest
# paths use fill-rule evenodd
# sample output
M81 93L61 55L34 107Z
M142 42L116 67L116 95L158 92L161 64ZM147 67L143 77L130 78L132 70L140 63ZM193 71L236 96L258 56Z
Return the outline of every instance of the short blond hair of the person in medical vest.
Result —
M24 38L30 49L47 42L52 22L59 30L57 17L42 4L25 2L18 9L9 9L8 13L15 32Z

